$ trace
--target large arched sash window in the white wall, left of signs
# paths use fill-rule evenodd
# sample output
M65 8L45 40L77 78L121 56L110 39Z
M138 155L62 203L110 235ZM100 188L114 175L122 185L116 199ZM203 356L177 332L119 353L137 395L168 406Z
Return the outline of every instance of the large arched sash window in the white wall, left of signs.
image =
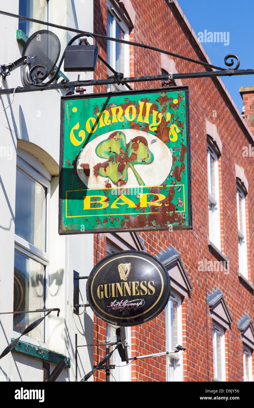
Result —
M45 308L50 177L37 159L18 150L13 311ZM29 324L42 316L42 313L15 314L13 330L22 333ZM44 321L27 333L27 337L45 343Z

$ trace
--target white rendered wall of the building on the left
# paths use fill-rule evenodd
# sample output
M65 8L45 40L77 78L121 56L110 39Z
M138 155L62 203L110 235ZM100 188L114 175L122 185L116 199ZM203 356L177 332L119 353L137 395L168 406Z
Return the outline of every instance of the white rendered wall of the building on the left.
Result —
M0 9L18 14L18 0L0 0ZM54 0L51 22L93 31L93 0ZM23 47L16 40L18 19L0 15L0 64L13 62ZM50 28L59 35L64 47L65 31ZM71 33L72 36L75 33ZM61 50L61 55L63 48ZM63 70L63 67L62 67ZM71 80L78 73L66 73ZM93 78L89 73L84 78ZM2 88L22 86L20 69L7 77ZM89 90L92 92L92 89ZM0 114L0 312L13 310L13 270L15 231L15 175L17 140L19 148L23 141L33 143L48 153L52 162L59 164L60 148L60 97L61 91L37 91L15 94L13 104ZM13 95L0 97L0 111L12 100ZM29 143L28 143L29 144ZM27 145L28 145L27 144ZM30 153L33 154L33 146ZM47 167L44 155L36 157ZM52 167L52 166L51 166ZM48 168L48 167L47 167ZM75 333L78 344L93 343L93 313L90 308L81 316L73 316L73 269L80 275L88 275L93 268L93 235L60 236L58 234L58 177L51 172L51 203L49 231L49 275L64 270L62 284L57 288L53 282L48 291L46 307L60 308L57 318L53 312L46 322L48 332L46 347L70 356L75 370ZM49 170L49 168L48 168ZM54 177L55 176L55 177ZM85 285L81 281L80 302L86 303ZM80 309L80 313L84 309ZM13 337L13 315L0 315L0 353ZM22 337L21 337L22 340ZM92 348L80 348L78 359L78 381L93 366ZM54 368L51 365L51 371ZM13 381L42 381L42 361L25 355L9 353L0 360L0 376L9 376ZM73 381L73 370L64 370L58 381ZM92 380L92 379L91 379Z

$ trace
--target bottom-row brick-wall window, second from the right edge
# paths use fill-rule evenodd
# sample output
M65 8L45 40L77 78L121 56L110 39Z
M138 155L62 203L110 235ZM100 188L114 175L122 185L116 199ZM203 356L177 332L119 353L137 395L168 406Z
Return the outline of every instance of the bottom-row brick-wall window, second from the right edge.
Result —
M224 330L215 324L212 328L214 381L226 381Z

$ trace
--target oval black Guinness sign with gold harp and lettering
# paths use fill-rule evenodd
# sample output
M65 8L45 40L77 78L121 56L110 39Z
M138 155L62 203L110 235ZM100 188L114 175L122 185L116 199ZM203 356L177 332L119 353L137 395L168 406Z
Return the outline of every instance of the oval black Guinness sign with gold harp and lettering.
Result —
M140 251L122 251L102 259L87 284L88 303L105 322L136 326L166 306L170 278L158 259Z

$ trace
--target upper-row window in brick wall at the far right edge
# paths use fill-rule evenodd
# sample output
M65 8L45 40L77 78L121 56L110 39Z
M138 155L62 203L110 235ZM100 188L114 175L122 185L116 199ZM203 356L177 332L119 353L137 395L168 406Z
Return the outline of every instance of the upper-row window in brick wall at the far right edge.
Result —
M239 272L248 279L245 192L237 185L236 191Z

